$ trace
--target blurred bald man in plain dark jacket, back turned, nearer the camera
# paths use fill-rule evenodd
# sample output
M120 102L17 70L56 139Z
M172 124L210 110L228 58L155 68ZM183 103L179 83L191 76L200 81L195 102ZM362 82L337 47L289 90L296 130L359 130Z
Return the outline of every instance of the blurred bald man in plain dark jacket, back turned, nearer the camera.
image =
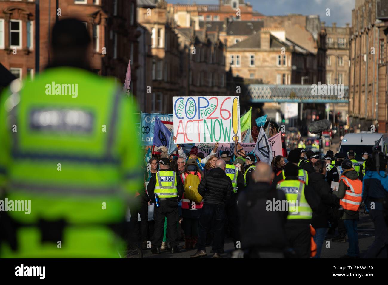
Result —
M286 195L271 184L275 174L268 164L256 164L252 176L253 183L240 193L237 206L241 249L248 251L249 258L283 258L288 211L274 210L277 203L287 203Z

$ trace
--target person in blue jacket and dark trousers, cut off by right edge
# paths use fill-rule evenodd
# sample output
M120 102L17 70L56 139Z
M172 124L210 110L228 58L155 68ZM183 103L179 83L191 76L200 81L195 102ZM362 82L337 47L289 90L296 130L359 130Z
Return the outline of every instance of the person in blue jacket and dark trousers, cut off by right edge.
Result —
M387 157L374 152L365 163L362 200L374 223L375 238L364 258L387 258L388 229L385 223L384 204L388 197Z

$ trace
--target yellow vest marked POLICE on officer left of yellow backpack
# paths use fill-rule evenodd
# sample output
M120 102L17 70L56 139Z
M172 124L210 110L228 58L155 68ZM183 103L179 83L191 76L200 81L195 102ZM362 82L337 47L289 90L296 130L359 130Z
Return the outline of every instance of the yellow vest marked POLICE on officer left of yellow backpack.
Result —
M177 173L175 171L158 171L156 173L155 193L159 198L178 197Z

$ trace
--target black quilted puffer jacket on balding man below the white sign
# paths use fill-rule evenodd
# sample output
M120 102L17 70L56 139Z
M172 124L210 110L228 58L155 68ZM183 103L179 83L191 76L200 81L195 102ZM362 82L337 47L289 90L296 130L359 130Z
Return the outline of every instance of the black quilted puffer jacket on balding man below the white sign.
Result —
M198 186L204 204L225 205L232 192L232 180L218 167L211 169Z

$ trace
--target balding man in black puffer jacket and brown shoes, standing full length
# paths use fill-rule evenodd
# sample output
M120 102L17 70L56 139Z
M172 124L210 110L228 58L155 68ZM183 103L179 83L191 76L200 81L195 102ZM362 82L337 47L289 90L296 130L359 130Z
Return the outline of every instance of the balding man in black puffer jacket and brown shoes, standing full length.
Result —
M191 257L206 256L206 236L213 227L213 258L222 252L222 231L225 219L225 204L233 192L232 180L225 174L225 161L219 159L216 167L202 178L198 193L203 197L203 208L199 217L198 251Z

